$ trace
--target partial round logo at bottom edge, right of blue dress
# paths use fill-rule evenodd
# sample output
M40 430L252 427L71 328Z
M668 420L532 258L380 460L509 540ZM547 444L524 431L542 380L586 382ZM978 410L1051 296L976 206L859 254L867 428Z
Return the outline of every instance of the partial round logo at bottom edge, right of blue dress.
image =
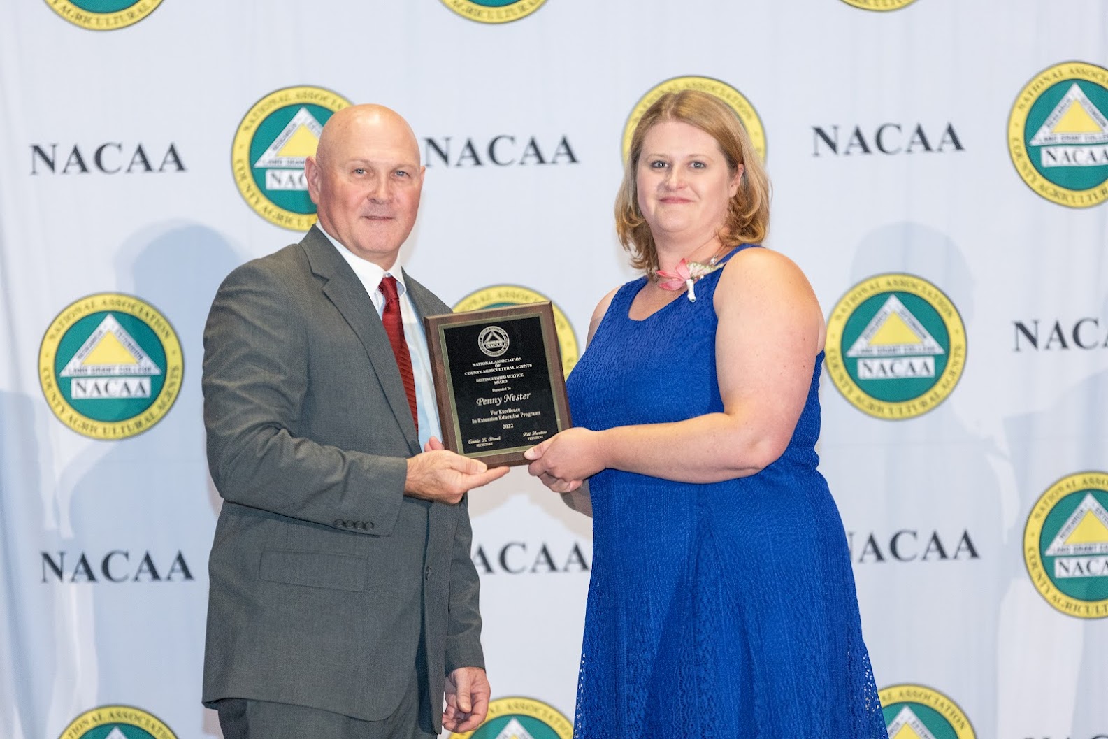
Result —
M922 685L894 685L878 692L889 739L976 739L961 707Z

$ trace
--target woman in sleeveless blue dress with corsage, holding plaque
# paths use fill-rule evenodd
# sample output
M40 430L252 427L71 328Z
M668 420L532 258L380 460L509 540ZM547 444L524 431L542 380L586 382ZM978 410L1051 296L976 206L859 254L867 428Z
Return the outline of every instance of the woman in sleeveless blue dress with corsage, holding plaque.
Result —
M685 91L646 111L616 201L646 275L593 315L578 427L527 452L593 514L578 739L886 739L815 469L823 316L800 269L755 246L768 220L725 104Z

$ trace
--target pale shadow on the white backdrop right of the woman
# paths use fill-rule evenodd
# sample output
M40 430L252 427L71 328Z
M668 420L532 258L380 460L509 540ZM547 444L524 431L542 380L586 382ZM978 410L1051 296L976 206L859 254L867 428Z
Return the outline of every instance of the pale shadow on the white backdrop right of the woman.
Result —
M889 273L925 279L950 298L966 327L966 368L945 400L904 420L866 415L824 376L821 470L850 536L866 642L896 645L872 654L878 687L929 684L932 674L948 673L952 660L981 666L965 670L958 684L932 687L972 711L978 736L996 736L992 625L999 617L1007 576L1001 479L1008 460L994 439L970 429L957 410L974 362L975 283L962 248L915 223L892 224L865 236L854 253L850 287ZM909 533L899 537L901 548L894 554L899 531ZM933 536L945 556L927 552ZM880 557L868 548L871 537ZM973 601L948 597L960 592L976 595ZM981 614L976 603L993 604L993 610ZM903 664L917 671L900 671Z

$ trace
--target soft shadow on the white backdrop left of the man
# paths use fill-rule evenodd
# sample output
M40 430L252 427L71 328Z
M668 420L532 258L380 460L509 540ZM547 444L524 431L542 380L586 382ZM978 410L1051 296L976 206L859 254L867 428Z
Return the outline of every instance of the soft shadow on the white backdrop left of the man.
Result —
M91 602L98 700L125 698L179 736L198 733L205 721L199 647L218 512L205 456L203 330L216 288L240 261L224 235L192 224L162 224L122 245L114 289L168 319L184 357L182 388L160 422L95 442L62 479L74 533L68 558L84 554L96 577L78 587ZM92 707L72 707L73 717Z

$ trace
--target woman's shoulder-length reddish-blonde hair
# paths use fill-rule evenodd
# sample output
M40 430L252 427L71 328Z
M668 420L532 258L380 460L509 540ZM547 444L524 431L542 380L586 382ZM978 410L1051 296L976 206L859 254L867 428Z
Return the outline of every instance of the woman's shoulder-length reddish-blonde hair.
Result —
M632 267L648 273L658 268L654 236L638 207L637 173L646 134L665 121L688 123L715 138L732 173L742 165L739 189L728 204L719 239L724 246L761 243L769 230L769 177L739 116L716 95L697 90L667 92L646 109L635 126L616 195L616 235L630 253Z

